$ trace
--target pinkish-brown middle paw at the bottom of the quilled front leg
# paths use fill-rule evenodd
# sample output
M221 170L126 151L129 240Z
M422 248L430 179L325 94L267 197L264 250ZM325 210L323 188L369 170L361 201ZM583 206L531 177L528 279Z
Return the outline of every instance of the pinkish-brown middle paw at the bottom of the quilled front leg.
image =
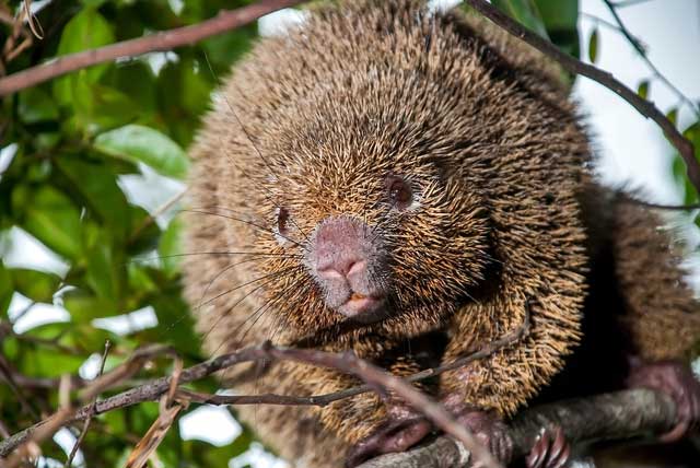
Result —
M452 406L451 411L499 461L508 464L513 458L513 441L503 421L468 405Z

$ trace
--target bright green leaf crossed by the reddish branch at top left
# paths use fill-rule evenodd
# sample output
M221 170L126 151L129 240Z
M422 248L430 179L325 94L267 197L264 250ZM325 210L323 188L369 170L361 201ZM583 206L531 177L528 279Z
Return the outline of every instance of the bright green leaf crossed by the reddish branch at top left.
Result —
M84 8L73 16L61 34L57 56L74 54L114 43L115 37L109 23L94 8ZM70 105L73 100L72 87L75 80L95 83L112 65L103 63L62 77L54 83L54 96L61 104Z

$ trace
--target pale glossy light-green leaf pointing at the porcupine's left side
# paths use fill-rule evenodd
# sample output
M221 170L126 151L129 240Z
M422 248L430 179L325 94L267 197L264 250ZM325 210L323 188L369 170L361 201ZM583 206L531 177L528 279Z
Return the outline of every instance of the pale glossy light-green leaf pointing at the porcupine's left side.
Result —
M115 157L140 161L159 173L183 178L189 160L183 149L165 134L150 127L127 125L97 136L97 150Z

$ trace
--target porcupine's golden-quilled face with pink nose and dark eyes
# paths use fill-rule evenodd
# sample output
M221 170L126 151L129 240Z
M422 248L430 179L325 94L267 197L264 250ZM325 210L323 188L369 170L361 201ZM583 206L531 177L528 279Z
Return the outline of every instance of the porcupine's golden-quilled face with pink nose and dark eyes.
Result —
M275 254L261 273L280 273L269 302L300 334L440 321L480 281L487 249L483 202L440 163L458 154L434 157L386 116L318 115L256 163L272 173L256 203L273 232L256 231Z

